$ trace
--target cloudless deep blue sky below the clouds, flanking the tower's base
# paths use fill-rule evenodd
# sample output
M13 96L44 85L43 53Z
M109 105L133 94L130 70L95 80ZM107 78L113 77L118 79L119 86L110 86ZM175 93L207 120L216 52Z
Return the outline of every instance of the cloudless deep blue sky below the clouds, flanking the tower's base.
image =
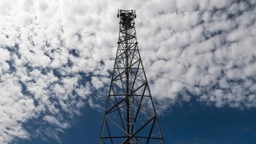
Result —
M166 144L171 143L256 143L256 109L216 108L192 101L176 104L159 116ZM103 112L85 106L72 127L59 133L62 144L98 143ZM47 126L47 125L46 125ZM35 138L21 144L58 143Z

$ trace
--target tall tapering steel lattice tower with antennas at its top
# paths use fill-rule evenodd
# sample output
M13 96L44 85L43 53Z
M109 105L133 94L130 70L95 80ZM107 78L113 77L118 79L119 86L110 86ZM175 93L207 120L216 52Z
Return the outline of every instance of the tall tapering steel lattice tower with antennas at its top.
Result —
M140 58L135 10L118 10L119 41L100 144L164 143Z

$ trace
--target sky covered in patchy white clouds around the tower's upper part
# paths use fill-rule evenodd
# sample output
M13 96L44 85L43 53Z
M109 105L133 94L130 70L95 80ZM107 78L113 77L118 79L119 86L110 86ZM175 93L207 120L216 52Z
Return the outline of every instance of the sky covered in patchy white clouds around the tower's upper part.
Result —
M0 143L58 140L85 104L104 110L117 9L137 11L137 40L158 112L192 98L256 108L255 6L255 0L1 1Z

